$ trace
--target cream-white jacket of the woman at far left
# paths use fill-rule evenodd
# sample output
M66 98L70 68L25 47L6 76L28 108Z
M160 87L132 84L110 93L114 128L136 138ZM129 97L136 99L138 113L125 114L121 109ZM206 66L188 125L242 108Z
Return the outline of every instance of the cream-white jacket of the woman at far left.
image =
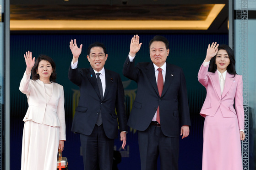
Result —
M49 102L46 99L44 82L31 80L31 74L24 73L20 91L27 95L28 109L23 121L31 120L38 124L60 127L60 140L66 140L65 110L63 86L53 82L53 90ZM45 121L44 121L45 118Z

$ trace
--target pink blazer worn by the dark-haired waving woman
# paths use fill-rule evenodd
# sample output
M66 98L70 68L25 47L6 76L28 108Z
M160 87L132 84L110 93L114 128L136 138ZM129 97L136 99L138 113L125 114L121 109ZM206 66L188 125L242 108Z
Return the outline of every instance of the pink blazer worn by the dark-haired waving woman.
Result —
M237 118L239 129L245 129L242 76L236 74L234 77L227 73L221 95L218 72L208 72L208 67L202 64L198 72L198 81L207 91L200 114L203 117L214 116L220 108L224 118Z

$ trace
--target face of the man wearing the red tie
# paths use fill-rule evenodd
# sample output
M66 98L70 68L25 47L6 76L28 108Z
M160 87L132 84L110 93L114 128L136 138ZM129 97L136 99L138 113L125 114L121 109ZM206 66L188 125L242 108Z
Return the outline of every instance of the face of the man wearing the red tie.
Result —
M166 49L163 41L153 41L149 49L149 54L151 61L158 67L161 67L169 55L169 49Z

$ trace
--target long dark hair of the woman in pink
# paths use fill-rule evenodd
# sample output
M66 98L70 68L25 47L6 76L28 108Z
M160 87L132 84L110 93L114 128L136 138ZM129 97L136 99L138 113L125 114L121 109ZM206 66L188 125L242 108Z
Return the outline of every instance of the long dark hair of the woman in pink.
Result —
M229 63L229 66L227 67L227 72L229 74L232 74L235 76L237 73L236 73L235 67L234 67L234 64L235 64L234 51L226 44L222 44L222 45L218 46L218 50L226 50L226 52L228 53L230 63ZM217 65L215 62L216 56L212 57L212 59L210 60L210 65L209 65L209 69L208 69L209 72L216 72L216 70L217 70Z

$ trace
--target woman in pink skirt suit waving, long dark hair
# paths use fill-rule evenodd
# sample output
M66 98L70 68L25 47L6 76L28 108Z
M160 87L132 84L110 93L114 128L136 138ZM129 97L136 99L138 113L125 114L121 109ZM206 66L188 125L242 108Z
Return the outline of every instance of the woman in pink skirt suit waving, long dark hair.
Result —
M205 117L202 170L243 169L243 81L234 64L234 52L229 46L216 42L208 45L198 72L198 81L207 90L200 112Z

